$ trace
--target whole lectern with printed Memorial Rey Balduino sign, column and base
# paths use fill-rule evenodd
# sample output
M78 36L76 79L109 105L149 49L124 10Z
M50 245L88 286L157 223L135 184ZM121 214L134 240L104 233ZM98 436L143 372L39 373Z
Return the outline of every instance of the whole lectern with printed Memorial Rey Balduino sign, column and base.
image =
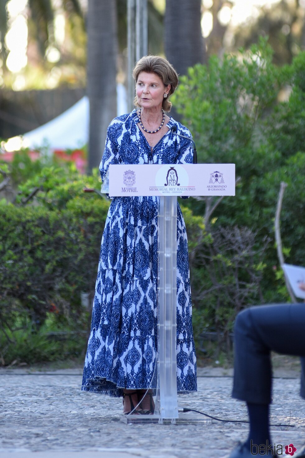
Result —
M235 164L110 164L102 192L160 196L156 407L153 415L130 414L124 420L192 422L187 414L179 417L177 398L177 196L235 196Z

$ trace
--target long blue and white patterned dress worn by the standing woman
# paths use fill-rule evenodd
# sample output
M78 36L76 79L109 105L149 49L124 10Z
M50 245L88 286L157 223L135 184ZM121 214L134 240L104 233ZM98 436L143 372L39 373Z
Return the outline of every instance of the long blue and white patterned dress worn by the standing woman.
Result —
M136 110L111 121L100 163L185 164L193 162L191 137L173 118L151 148ZM177 215L177 388L197 390L189 257L184 219ZM122 396L122 388L156 388L158 197L114 197L102 237L91 333L82 390ZM150 385L153 378L153 382Z

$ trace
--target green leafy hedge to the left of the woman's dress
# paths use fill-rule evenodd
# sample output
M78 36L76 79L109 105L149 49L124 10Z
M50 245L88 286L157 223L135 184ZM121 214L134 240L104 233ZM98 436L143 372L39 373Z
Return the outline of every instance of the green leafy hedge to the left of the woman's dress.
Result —
M81 304L81 293L93 299L110 202L97 193L84 193L86 187L100 187L97 170L87 177L73 166L43 167L19 186L15 205L1 202L0 333L16 348L23 338L33 343L42 336L49 313L58 329L88 328L89 313ZM3 345L2 339L0 356L7 364L13 358L7 351L16 352L9 346L4 356ZM47 348L50 354L44 357L52 359L49 341ZM38 354L42 357L40 350L31 352L32 362Z

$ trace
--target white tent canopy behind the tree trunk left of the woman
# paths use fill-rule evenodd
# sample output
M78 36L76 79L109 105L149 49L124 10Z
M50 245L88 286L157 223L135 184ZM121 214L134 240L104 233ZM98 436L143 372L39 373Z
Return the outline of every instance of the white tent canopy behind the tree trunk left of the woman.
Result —
M122 84L116 87L117 115L127 113L126 89ZM24 147L41 147L47 144L51 149L75 149L88 142L89 100L81 98L71 108L33 131L23 135Z

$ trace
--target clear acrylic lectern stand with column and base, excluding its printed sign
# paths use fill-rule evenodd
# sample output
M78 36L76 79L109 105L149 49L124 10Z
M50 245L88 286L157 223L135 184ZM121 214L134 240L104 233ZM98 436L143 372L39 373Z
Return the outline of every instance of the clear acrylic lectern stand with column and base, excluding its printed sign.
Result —
M198 167L199 164L196 165ZM223 166L224 164L222 164ZM200 164L202 166L202 164ZM214 164L210 166L215 170ZM120 165L114 165L116 170ZM125 169L135 166L124 166ZM140 167L140 166L136 166ZM141 166L143 167L143 166ZM145 165L148 170L150 165ZM171 165L167 165L171 167ZM173 167L171 167L173 168ZM124 170L125 170L124 169ZM134 172L126 171L126 174ZM218 172L215 172L218 173ZM235 173L235 169L234 169ZM110 174L111 176L111 174ZM113 175L118 180L118 174ZM131 175L130 175L131 176ZM216 175L217 177L218 175ZM128 178L128 177L127 177ZM151 179L149 179L151 180ZM200 176L202 181L202 174ZM125 181L124 181L125 182ZM164 182L164 181L163 181ZM235 179L234 179L235 185ZM120 185L121 186L121 185ZM199 188L199 187L198 187ZM128 190L130 191L130 190ZM234 187L235 191L235 187ZM109 175L107 173L101 192L109 192ZM203 191L206 192L206 191ZM121 194L114 194L121 195ZM129 194L132 195L131 193ZM139 194L133 194L139 195ZM140 195L146 195L140 194ZM156 194L155 194L156 195ZM157 194L158 195L158 194ZM197 195L207 195L202 192ZM228 194L233 195L233 194ZM150 388L156 391L155 411L150 415L130 414L123 416L126 423L202 423L211 424L212 421L204 415L192 412L179 412L177 393L177 196L159 196L158 206L158 352L153 376L153 385ZM184 395L185 396L185 395ZM187 401L186 401L187 402Z

